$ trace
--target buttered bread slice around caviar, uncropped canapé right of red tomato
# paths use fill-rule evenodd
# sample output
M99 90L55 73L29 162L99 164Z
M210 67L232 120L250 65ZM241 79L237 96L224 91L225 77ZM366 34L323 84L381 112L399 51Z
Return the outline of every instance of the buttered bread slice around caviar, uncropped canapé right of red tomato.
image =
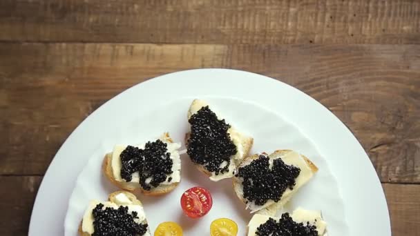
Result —
M263 153L263 155L267 154ZM285 164L293 165L300 168L300 173L296 178L296 185L294 186L293 190L287 188L279 201L275 202L270 199L262 206L258 206L254 202L247 202L247 199L244 199L242 178L233 178L233 190L235 190L235 193L240 199L240 201L242 201L247 206L247 208L251 210L251 213L258 212L262 215L275 215L280 208L283 208L283 206L287 203L287 201L289 201L289 199L294 195L294 193L296 193L296 191L301 186L306 184L306 182L312 178L314 173L318 171L318 168L307 157L305 157L304 155L300 155L299 153L296 153L292 150L276 150L274 153L271 153L267 156L270 160L281 158L285 162ZM252 155L250 157L247 157L242 161L242 163L238 167L238 170L239 168L251 164L252 161L258 159L259 157L260 155Z

